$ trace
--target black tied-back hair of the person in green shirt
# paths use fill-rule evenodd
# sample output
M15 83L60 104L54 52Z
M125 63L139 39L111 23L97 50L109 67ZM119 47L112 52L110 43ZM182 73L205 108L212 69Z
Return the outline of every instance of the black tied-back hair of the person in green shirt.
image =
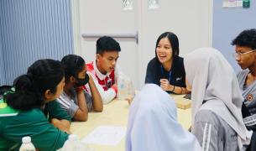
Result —
M13 81L15 91L3 96L9 107L27 111L44 105L44 92L55 94L56 86L64 77L64 70L58 60L37 60L29 66L26 75Z

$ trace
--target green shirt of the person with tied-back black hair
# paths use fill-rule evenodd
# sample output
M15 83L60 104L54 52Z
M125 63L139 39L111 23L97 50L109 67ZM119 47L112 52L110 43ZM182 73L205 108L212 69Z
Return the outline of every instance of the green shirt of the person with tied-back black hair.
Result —
M30 136L34 147L42 151L61 148L68 134L50 124L53 117L71 121L55 101L47 103L44 112L40 108L18 112L0 100L0 150L18 150L24 136Z

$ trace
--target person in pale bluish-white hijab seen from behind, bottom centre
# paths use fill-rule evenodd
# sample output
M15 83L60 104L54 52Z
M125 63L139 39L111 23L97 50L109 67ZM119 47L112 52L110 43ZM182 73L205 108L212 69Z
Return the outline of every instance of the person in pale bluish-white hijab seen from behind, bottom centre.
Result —
M146 84L130 107L126 151L201 151L196 137L177 122L175 102Z

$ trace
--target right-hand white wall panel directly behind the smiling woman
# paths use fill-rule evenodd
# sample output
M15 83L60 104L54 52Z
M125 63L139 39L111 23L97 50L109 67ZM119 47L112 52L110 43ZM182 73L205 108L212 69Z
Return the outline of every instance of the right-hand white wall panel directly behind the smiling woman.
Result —
M155 42L165 31L178 36L181 56L196 48L212 46L212 0L159 0L159 10L149 10L147 1L141 5L139 81L144 81L147 64L154 57Z

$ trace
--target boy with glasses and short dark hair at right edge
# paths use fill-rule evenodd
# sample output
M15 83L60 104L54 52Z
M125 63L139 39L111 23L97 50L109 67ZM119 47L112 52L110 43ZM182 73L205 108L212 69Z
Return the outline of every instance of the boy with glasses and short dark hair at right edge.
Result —
M248 129L256 131L256 29L246 29L232 40L235 58L241 71L238 82L242 91L243 122Z

